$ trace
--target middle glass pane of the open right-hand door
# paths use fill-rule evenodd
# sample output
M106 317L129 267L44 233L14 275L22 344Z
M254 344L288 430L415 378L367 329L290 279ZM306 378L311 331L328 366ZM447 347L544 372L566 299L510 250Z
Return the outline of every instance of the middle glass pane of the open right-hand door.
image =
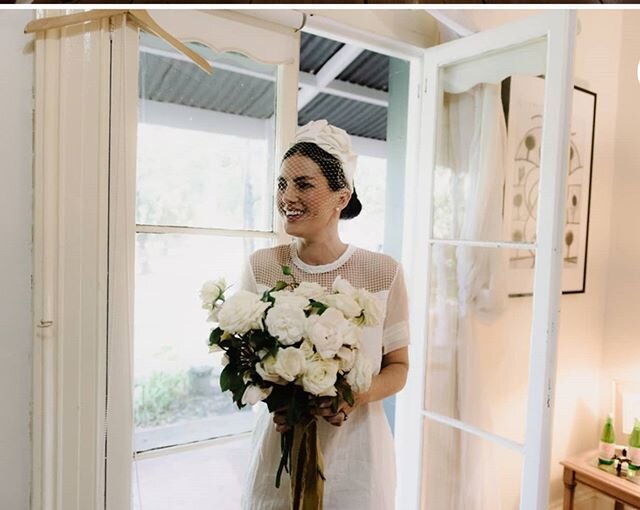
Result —
M523 442L532 306L506 297L508 254L433 247L425 408Z

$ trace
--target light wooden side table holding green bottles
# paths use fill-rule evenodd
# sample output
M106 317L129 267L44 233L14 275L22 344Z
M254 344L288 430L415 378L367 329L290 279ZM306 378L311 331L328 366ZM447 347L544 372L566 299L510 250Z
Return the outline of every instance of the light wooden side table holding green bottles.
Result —
M599 469L597 458L598 451L593 450L560 463L564 466L563 509L573 509L573 493L577 483L613 498L616 502L615 510L623 510L624 505L640 508L640 484Z

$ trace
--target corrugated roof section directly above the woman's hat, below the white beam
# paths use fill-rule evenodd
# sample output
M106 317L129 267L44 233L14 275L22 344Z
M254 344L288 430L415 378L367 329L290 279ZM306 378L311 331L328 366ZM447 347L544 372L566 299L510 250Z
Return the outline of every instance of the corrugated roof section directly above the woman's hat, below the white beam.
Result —
M298 124L318 119L327 119L351 135L375 140L387 138L387 109L384 106L319 94L298 112Z

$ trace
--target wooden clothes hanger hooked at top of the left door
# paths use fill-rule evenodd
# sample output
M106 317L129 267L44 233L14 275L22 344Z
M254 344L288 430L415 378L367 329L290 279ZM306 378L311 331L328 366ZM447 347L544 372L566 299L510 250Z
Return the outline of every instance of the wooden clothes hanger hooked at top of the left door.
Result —
M54 28L79 25L81 23L88 23L89 21L117 16L119 14L126 15L140 29L159 37L166 43L173 46L180 53L189 57L198 67L200 67L200 69L202 69L206 73L211 74L213 72L213 69L211 68L209 62L207 62L202 56L198 55L198 53L193 51L186 44L173 37L164 28L158 25L158 23L156 23L156 21L149 15L147 11L139 9L95 9L92 11L78 12L75 14L67 14L64 16L37 19L27 23L27 26L24 29L24 33L28 34Z

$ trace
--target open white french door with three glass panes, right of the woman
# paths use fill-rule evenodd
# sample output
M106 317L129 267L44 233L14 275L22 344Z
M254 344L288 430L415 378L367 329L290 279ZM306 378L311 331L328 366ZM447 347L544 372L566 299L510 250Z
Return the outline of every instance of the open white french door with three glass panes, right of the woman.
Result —
M398 508L548 505L575 23L550 11L424 53Z

